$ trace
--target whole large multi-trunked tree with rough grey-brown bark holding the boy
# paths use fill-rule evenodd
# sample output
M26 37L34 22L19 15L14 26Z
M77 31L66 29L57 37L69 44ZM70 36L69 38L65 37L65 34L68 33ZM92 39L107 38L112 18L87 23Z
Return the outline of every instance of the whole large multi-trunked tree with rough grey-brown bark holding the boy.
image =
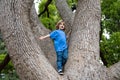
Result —
M78 0L75 17L65 0L56 0L66 29L72 30L64 76L52 64L52 41L38 40L49 30L38 21L33 6L33 0L0 0L0 29L21 80L120 79L120 62L110 68L99 63L100 0Z

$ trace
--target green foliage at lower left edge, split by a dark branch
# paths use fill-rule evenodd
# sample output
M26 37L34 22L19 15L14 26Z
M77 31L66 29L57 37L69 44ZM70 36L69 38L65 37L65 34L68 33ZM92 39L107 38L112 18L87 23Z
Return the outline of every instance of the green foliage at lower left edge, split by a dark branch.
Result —
M3 42L2 35L0 34L0 63L2 63L7 54L5 43ZM11 61L1 71L0 80L19 80Z

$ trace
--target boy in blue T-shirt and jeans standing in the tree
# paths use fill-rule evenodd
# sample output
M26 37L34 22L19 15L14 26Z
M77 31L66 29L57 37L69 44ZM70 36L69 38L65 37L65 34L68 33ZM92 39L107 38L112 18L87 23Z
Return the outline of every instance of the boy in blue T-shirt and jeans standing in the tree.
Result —
M41 36L39 39L43 40L50 37L54 41L54 48L57 55L57 69L60 75L63 74L63 68L68 59L68 45L66 42L65 26L63 21L59 21L56 25L56 30L52 31L46 36Z

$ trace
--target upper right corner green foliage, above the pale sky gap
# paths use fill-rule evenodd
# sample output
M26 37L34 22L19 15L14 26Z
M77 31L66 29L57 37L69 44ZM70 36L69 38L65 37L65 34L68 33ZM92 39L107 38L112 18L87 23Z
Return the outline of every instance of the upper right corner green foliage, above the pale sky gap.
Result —
M120 0L101 0L103 28L110 34L120 31Z

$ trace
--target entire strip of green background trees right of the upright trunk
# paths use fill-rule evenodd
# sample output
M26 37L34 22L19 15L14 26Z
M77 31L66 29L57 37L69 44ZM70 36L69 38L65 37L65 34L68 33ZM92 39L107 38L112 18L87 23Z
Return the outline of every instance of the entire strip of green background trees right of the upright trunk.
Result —
M120 1L119 0L101 0L102 20L101 20L101 57L104 64L109 67L120 61ZM106 4L107 3L107 4ZM107 32L109 38L104 36Z

